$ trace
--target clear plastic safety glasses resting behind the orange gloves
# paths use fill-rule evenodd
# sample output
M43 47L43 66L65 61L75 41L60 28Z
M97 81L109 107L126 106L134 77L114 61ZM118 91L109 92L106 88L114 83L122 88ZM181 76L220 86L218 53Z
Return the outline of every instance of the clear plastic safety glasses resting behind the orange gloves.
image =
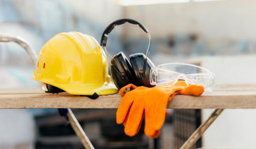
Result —
M185 81L188 86L203 85L204 91L212 91L215 74L203 67L185 63L162 64L150 70L151 85L170 87L177 81Z

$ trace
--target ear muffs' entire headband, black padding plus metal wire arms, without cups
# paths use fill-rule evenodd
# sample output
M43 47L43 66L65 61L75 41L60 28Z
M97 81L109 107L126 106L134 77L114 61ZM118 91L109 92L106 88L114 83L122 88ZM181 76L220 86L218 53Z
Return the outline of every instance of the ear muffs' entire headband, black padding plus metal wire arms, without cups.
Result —
M140 22L136 21L136 20L132 20L132 19L119 19L119 20L116 20L114 22L112 22L110 25L108 25L108 27L105 29L105 31L103 32L102 34L102 38L100 40L100 46L101 46L101 50L102 50L102 47L105 48L105 51L106 53L108 54L107 50L106 50L106 45L107 45L107 40L108 40L108 34L115 28L116 25L122 25L124 24L125 22L128 22L128 23L131 23L131 24L135 24L135 25L139 25L140 28L143 29L143 31L145 31L145 33L148 34L148 39L149 39L149 44L148 44L148 50L147 50L147 53L146 53L146 59L145 59L145 62L144 62L144 73L143 73L143 77L145 77L145 69L146 69L146 63L147 63L147 60L148 60L148 57L149 57L149 52L150 52L150 48L151 48L151 37L150 37L150 34L147 30L147 28L145 28L144 25L142 25ZM102 50L102 53L103 53L103 50ZM104 54L103 54L104 55ZM105 56L105 55L104 55ZM109 56L109 54L108 54ZM111 56L109 56L111 57ZM105 58L107 59L107 57L105 56ZM112 59L112 57L111 57ZM108 59L107 59L108 60ZM109 62L109 60L108 60ZM110 65L114 68L114 70L116 70L116 72L119 74L119 76L121 76L121 73L116 69L115 66L113 66L111 64L111 62L109 62ZM121 76L122 79L124 79L125 76Z

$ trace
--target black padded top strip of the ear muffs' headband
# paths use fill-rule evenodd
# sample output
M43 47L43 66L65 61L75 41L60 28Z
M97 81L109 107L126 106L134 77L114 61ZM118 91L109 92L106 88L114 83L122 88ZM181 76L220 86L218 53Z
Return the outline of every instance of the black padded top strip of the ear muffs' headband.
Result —
M102 38L100 39L100 46L105 47L107 45L107 39L108 39L108 34L115 28L116 25L122 25L125 22L131 23L131 24L138 24L140 28L143 29L146 33L148 33L147 28L145 28L144 25L142 25L140 22L132 20L132 19L119 19L114 22L112 22L108 27L105 29L105 31L102 34Z

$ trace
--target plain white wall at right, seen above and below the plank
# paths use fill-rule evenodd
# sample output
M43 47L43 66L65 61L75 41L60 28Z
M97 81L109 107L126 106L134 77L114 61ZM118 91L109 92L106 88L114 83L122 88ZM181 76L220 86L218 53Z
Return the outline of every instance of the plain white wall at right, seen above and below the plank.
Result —
M185 61L200 64L215 73L216 84L255 84L256 55L207 56ZM242 100L242 99L241 99ZM202 111L202 121L213 112ZM228 149L256 148L256 109L226 109L204 132L203 147Z

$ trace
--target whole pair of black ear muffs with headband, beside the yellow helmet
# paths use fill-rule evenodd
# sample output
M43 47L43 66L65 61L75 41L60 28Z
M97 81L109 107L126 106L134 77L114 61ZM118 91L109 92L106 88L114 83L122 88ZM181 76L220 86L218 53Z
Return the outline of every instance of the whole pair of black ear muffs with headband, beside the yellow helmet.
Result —
M143 53L137 53L130 56L130 62L124 53L120 52L116 54L113 58L109 56L108 52L106 51L107 39L108 34L115 28L116 25L122 25L125 22L129 22L131 24L137 24L140 28L148 34L149 44L147 54L144 55ZM105 56L102 47L105 48L106 53L109 57L111 57L111 75L114 84L118 89L121 89L125 85L134 84L136 86L145 86L145 87L153 87L150 84L149 74L151 67L154 67L154 64L148 59L150 47L151 47L151 37L150 34L140 22L131 19L120 19L112 22L102 34L102 38L100 41L101 50L103 56ZM107 59L107 57L105 56ZM107 59L108 60L108 59Z

